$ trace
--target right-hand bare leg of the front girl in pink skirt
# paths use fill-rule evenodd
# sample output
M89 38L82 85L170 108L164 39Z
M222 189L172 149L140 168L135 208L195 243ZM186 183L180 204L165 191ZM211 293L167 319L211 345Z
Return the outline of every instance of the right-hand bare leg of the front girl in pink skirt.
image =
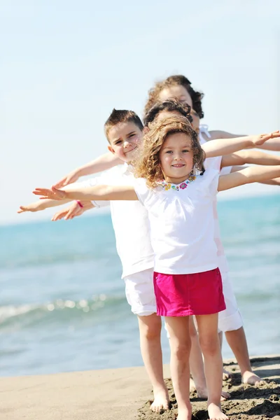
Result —
M221 411L223 359L218 337L218 314L198 315L197 327L204 356L204 371L208 388L209 419L228 419Z

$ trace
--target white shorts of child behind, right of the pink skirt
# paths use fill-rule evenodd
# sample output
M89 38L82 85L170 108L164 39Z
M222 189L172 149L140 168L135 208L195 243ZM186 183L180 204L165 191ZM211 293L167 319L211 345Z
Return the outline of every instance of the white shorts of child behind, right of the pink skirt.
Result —
M238 330L243 326L243 320L237 306L232 281L228 272L221 272L221 276L226 309L218 314L218 330L223 332Z

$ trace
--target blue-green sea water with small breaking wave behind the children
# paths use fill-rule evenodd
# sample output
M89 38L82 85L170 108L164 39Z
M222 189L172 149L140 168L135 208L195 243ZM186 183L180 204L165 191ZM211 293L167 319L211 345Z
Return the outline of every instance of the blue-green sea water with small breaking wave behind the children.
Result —
M249 351L279 353L280 195L218 212ZM0 239L2 377L142 365L109 214L1 226ZM162 346L167 363L165 332Z

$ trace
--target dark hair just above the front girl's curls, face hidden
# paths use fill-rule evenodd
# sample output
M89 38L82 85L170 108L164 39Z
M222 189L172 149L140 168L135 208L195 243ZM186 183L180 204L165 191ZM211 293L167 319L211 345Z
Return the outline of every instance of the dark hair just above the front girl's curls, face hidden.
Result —
M153 123L153 120L155 120L162 111L178 112L181 116L188 118L190 123L193 123L193 117L190 115L190 106L188 104L181 104L181 102L179 102L176 98L170 98L162 102L157 102L151 109L148 110L143 119L144 125L146 126Z

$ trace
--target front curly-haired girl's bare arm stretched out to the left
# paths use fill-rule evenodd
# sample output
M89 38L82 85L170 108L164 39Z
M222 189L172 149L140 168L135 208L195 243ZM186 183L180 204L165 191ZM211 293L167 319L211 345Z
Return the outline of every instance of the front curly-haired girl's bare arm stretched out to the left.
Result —
M58 190L55 187L35 188L35 195L41 195L40 200L50 198L52 200L138 200L133 186L92 186L79 187L77 184L68 186L66 190Z

